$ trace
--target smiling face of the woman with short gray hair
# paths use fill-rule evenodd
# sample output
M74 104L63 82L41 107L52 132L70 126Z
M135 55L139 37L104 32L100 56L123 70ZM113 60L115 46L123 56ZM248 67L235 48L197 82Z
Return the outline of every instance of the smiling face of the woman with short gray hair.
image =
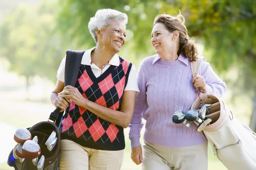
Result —
M98 41L104 45L104 48L119 53L122 46L125 44L126 25L122 21L112 21L110 25L100 31Z

